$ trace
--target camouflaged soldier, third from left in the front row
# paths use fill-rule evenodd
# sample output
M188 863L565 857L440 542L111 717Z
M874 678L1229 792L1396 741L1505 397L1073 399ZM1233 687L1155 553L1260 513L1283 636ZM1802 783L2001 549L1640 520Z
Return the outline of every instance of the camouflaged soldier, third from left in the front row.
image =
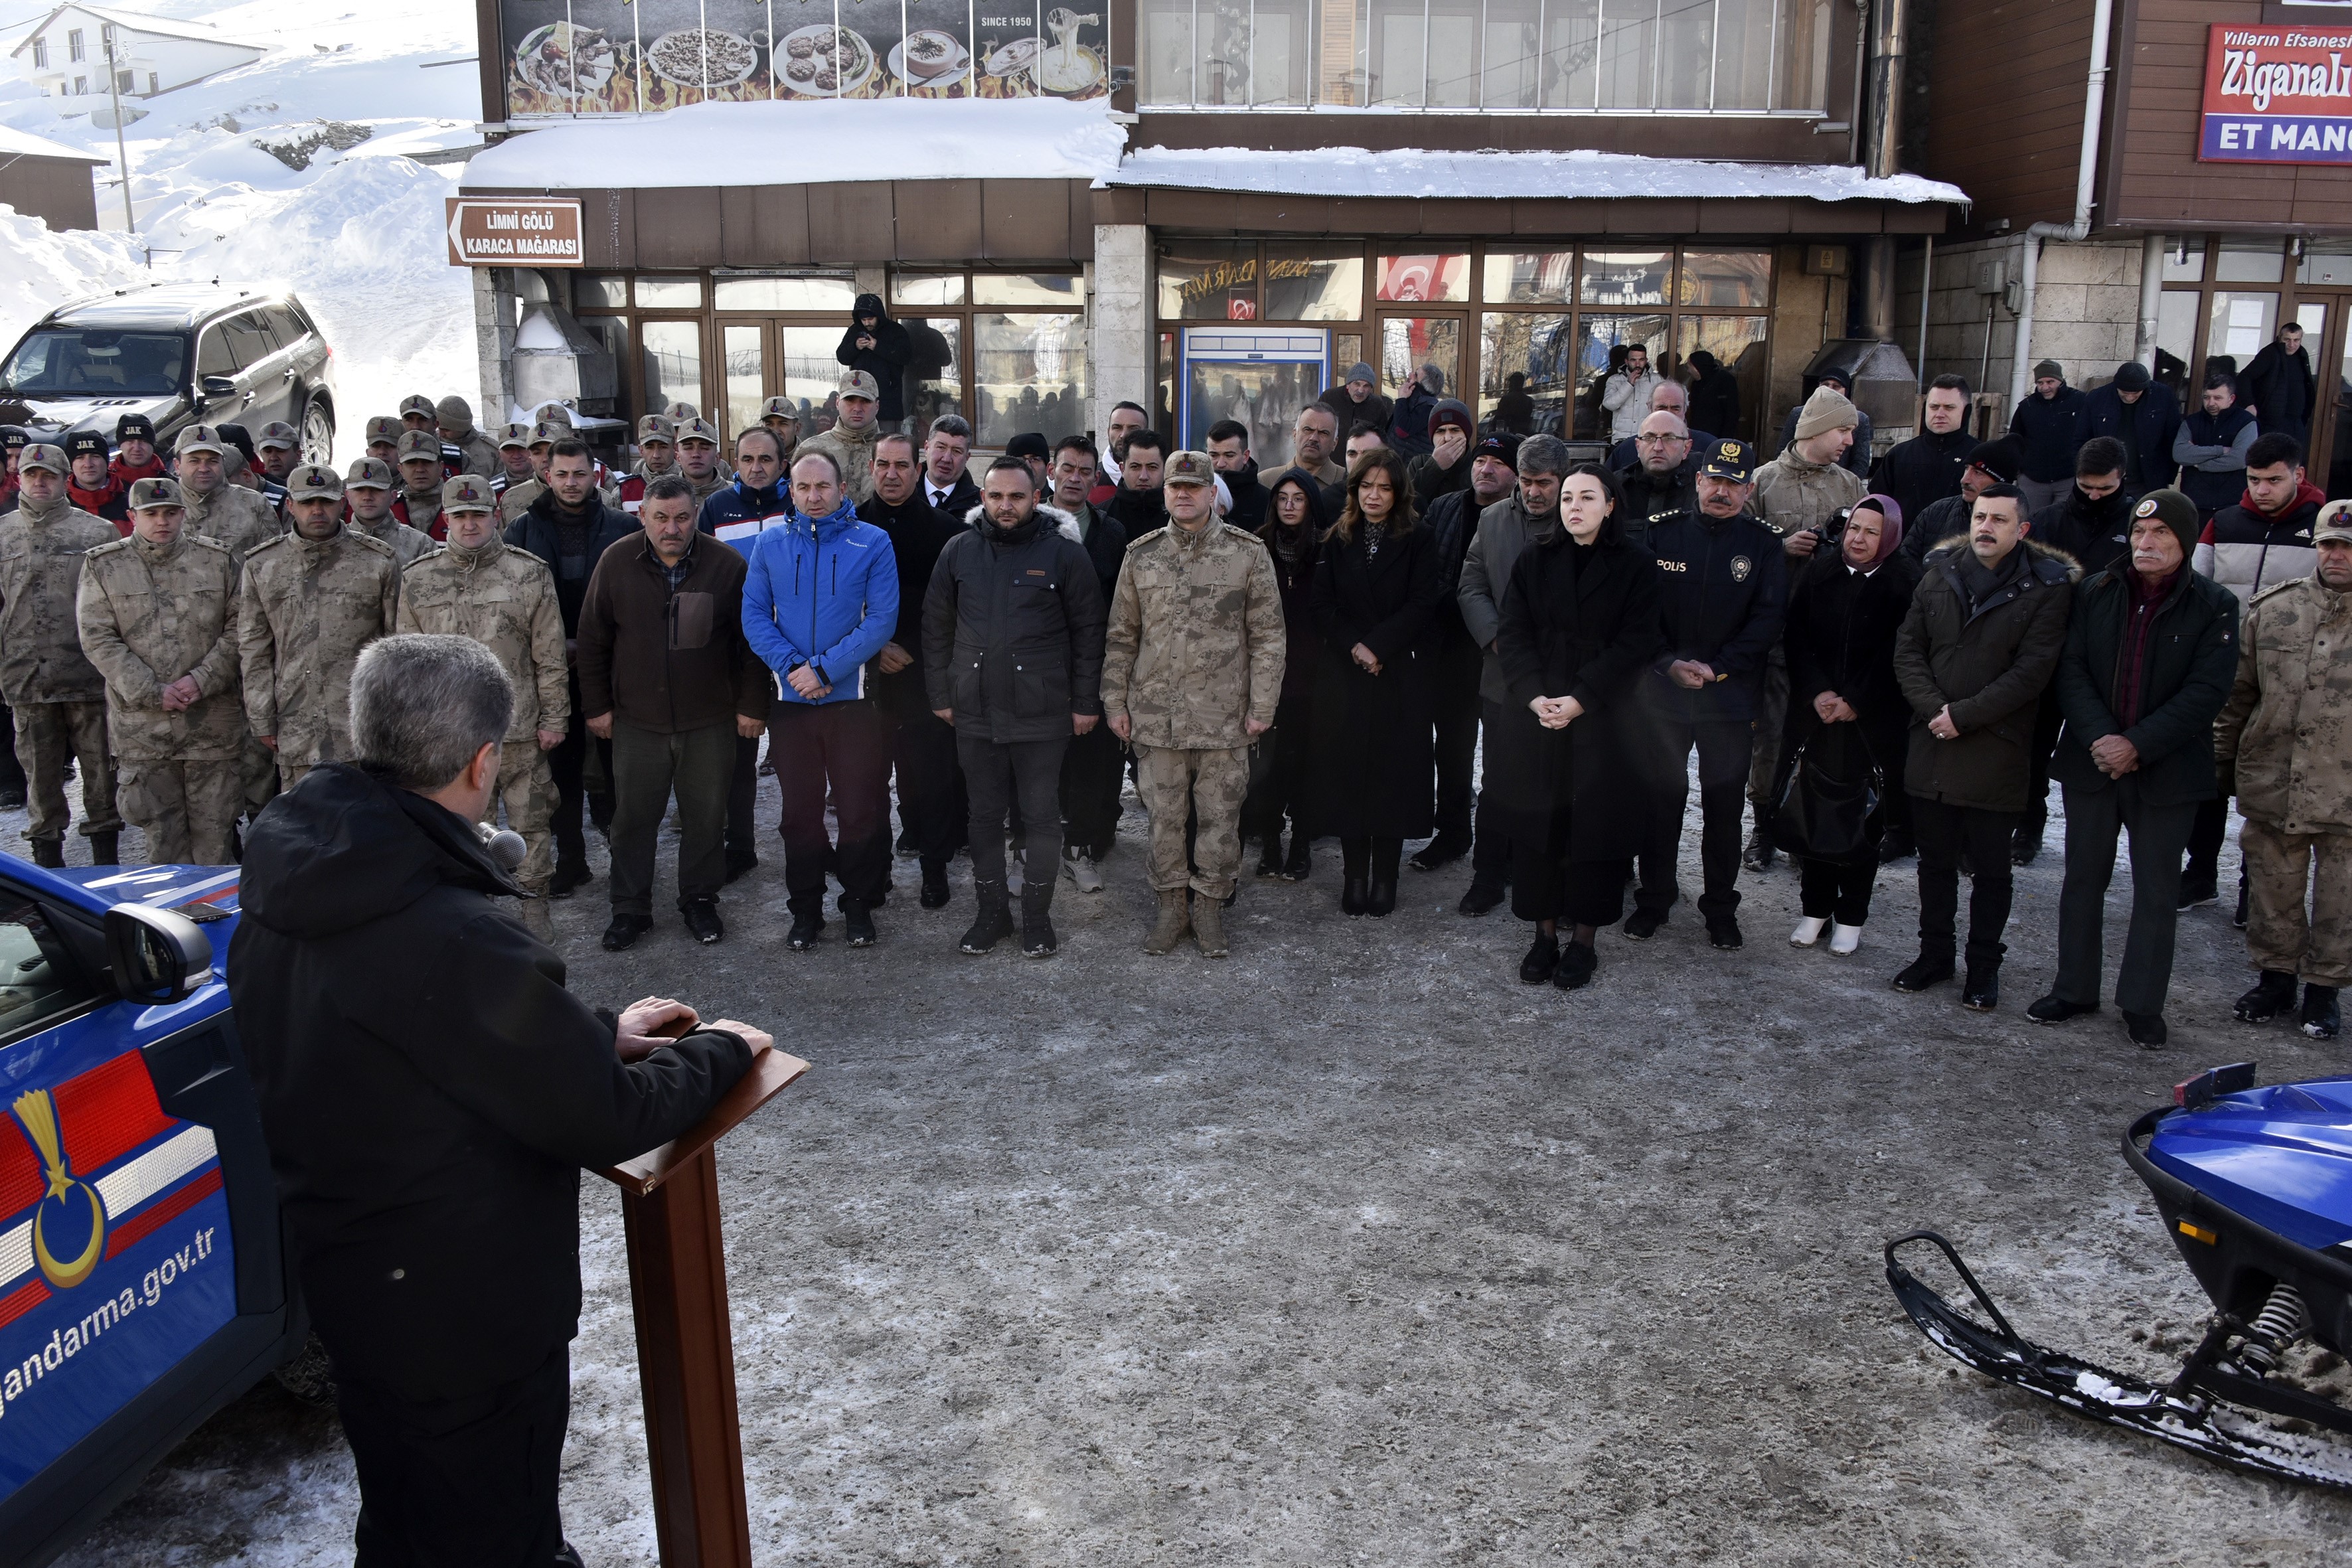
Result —
M238 588L245 719L278 752L292 790L350 757L350 670L400 614L400 562L339 520L343 482L325 463L294 470L294 531L254 550Z

